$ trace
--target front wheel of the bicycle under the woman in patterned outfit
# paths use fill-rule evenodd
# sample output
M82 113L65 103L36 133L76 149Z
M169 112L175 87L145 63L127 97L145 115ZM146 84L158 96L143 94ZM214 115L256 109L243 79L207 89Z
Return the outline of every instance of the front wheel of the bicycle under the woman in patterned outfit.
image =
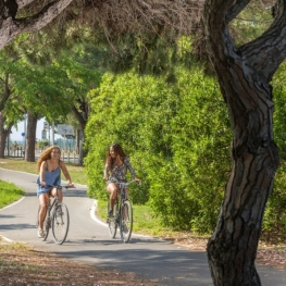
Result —
M132 236L133 228L133 209L128 200L125 200L121 207L120 232L121 239L127 244Z

